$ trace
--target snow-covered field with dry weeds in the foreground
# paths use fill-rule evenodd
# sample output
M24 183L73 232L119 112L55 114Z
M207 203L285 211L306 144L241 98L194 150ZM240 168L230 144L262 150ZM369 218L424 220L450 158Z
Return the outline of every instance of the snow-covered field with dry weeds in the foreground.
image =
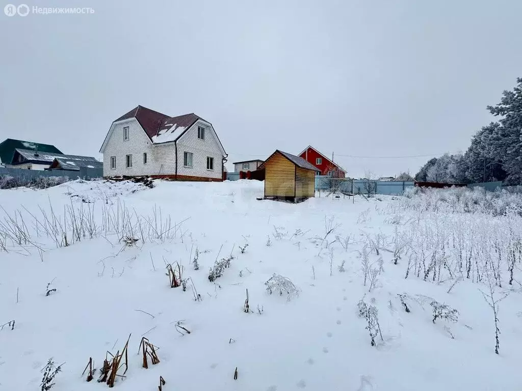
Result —
M0 191L0 391L520 389L519 196L155 185Z

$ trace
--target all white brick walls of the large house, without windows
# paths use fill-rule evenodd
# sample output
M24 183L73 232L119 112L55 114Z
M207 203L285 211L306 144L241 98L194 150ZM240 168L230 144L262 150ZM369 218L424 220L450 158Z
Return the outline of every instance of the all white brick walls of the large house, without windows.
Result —
M197 138L197 127L205 127L205 140ZM123 140L123 128L129 127L129 139ZM109 139L103 150L103 176L169 176L176 173L176 154L174 142L153 144L136 118L112 124ZM193 166L183 166L183 152L193 153ZM144 164L143 154L147 153ZM132 167L126 167L126 155L132 155ZM185 177L222 180L222 154L219 142L210 125L198 120L177 141L177 174L180 180ZM111 168L111 156L116 156L116 168ZM207 156L214 158L213 170L207 170ZM192 179L194 180L194 179Z

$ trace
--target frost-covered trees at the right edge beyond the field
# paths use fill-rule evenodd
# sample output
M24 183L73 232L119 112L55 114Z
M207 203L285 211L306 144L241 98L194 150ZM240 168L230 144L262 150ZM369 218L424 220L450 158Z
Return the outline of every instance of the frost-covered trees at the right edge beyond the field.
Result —
M446 153L431 158L415 179L447 184L522 184L522 78L517 78L513 91L502 93L500 103L487 109L501 118L482 127L464 154Z

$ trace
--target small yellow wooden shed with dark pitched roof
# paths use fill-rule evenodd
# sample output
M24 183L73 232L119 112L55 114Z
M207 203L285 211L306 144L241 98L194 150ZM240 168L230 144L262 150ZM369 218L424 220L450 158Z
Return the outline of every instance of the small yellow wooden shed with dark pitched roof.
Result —
M318 169L302 157L277 150L263 166L265 199L301 202L315 196Z

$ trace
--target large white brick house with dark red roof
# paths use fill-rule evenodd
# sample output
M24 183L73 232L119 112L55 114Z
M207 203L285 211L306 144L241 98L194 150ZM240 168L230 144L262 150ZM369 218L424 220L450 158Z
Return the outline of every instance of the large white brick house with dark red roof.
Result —
M194 113L171 117L138 106L105 136L103 176L221 181L227 153L208 121Z

